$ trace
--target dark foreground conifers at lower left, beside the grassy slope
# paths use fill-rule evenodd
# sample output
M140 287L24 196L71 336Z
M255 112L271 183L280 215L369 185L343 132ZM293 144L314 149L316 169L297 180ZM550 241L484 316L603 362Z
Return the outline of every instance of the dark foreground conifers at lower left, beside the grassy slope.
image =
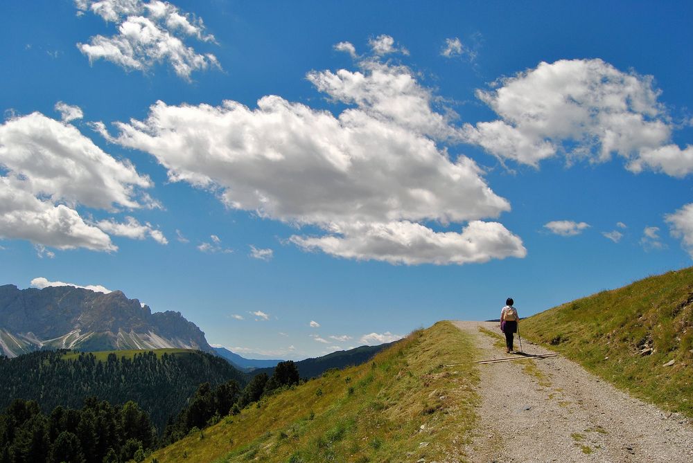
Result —
M119 406L87 397L82 408L61 404L44 413L37 401L14 399L0 414L0 463L143 462L156 448L297 383L299 372L292 361L279 363L271 377L256 375L245 388L235 379L216 386L202 383L168 419L160 439L148 413L134 401ZM72 385L62 388L71 390Z

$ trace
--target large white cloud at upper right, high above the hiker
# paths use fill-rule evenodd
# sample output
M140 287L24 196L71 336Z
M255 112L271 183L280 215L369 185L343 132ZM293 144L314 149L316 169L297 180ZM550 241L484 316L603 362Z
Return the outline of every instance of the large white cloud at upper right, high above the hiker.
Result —
M557 153L608 161L632 172L693 172L691 147L669 144L672 124L651 76L622 72L602 60L542 62L535 69L477 91L499 120L464 125L468 143L501 160L537 166Z

